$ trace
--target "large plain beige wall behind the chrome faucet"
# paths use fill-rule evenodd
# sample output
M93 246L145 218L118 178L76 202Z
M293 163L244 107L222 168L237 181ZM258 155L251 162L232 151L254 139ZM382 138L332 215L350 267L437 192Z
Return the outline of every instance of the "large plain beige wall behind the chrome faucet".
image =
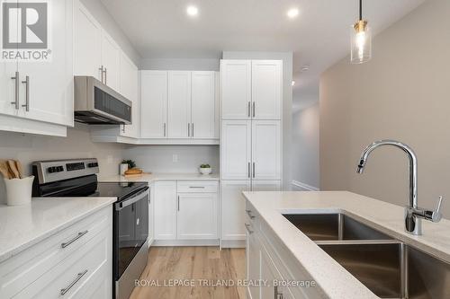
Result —
M365 174L356 163L382 138L419 157L419 205L450 199L450 1L428 0L374 39L373 60L349 59L320 78L320 189L347 189L398 205L408 199L408 160L376 150ZM450 218L450 201L444 204Z

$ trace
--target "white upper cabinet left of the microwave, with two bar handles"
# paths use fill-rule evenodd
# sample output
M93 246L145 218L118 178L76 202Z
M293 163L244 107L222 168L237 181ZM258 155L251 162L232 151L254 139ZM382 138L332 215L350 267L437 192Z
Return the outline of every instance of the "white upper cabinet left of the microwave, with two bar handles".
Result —
M7 15L23 15L28 13L25 9L14 8ZM15 39L10 39L21 40L10 45L14 57L30 57L0 62L2 130L65 136L66 127L73 127L73 2L49 1L46 12L51 12L49 23L42 26L47 34L16 31ZM30 50L30 44L36 45Z

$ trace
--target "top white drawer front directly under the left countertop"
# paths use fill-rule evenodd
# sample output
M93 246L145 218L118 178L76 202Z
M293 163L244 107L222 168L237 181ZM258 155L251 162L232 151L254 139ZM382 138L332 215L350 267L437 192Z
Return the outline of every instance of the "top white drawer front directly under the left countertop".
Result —
M0 264L0 297L9 298L44 274L52 273L53 268L73 257L76 251L108 227L111 230L111 207L105 207L5 260Z

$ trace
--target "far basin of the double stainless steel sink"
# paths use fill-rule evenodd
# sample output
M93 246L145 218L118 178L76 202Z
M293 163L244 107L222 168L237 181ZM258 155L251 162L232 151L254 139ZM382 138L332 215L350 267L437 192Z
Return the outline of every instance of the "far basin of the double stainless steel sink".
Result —
M312 241L392 240L392 237L344 214L295 214L284 217Z

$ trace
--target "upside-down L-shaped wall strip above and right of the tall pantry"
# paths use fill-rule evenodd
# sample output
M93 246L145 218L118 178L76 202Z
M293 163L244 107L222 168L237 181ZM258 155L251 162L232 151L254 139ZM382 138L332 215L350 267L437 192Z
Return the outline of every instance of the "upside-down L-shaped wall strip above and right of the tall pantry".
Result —
M283 60L283 188L291 189L291 140L293 125L293 53L224 51L223 59L280 59Z

